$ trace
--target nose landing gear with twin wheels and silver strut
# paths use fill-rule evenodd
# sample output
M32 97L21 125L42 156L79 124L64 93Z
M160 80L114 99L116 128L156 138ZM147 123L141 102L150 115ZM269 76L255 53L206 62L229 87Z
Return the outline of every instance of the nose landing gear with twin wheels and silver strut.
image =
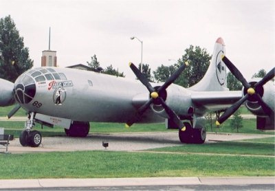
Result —
M34 112L30 113L29 120L25 122L25 130L21 132L19 142L22 146L38 147L41 144L42 136L39 131L31 131L34 126Z

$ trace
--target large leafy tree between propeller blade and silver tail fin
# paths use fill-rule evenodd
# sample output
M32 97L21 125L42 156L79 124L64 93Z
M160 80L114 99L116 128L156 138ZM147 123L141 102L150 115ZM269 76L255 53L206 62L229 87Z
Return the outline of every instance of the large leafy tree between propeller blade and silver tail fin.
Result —
M183 87L191 87L197 84L206 74L212 56L206 52L206 49L201 49L199 46L194 47L193 45L190 45L185 52L175 64L175 67L179 68L186 61L189 63L189 66L184 69L175 81L175 84Z

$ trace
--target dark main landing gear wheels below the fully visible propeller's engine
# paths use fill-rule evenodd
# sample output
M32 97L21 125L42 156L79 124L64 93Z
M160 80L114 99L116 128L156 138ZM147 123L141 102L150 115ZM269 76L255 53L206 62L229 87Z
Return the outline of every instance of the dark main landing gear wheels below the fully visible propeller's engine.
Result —
M192 128L191 124L184 122L185 131L179 130L179 140L186 144L203 144L206 140L206 128Z

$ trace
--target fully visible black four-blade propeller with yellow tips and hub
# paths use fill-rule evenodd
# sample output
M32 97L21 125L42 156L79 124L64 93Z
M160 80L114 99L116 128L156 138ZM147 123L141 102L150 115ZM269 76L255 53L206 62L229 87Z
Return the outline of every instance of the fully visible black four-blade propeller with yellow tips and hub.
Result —
M140 106L139 109L137 109L137 113L135 114L135 117L131 118L128 122L126 122L125 126L129 127L137 120L140 120L140 117L148 109L148 107L152 103L157 103L163 106L167 115L170 117L170 120L172 120L177 125L177 128L179 128L179 130L181 131L185 131L186 128L184 124L181 122L181 120L179 120L179 116L177 116L177 114L172 109L170 109L170 107L166 104L162 96L165 94L164 91L166 90L166 88L169 85L171 85L179 77L181 72L184 71L186 66L188 66L188 63L186 62L184 63L184 65L181 65L179 69L177 69L177 71L175 71L175 73L172 74L172 76L170 76L166 80L166 82L164 82L164 85L162 85L161 87L157 87L156 89L154 89L151 86L150 82L148 82L148 79L144 76L144 74L141 73L139 69L137 69L137 67L133 63L129 63L129 66L132 69L135 76L137 76L137 79L139 79L140 82L142 82L142 84L148 89L150 93L150 99L145 104Z

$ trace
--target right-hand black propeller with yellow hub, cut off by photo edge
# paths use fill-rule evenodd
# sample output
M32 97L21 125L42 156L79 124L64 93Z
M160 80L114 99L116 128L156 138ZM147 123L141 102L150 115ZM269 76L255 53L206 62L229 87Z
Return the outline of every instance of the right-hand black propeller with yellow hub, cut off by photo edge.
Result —
M232 72L232 74L242 83L242 85L244 87L245 95L243 96L243 98L241 98L240 100L238 100L237 102L232 104L232 106L230 106L230 108L225 110L223 115L221 115L221 117L219 117L219 119L217 120L216 125L219 126L221 123L223 123L225 120L227 120L228 117L230 117L230 115L232 115L237 109L239 109L241 104L243 104L243 102L245 102L246 100L252 100L252 101L258 102L261 105L263 111L267 115L269 115L269 116L274 115L274 111L270 108L270 106L268 106L263 101L261 94L263 92L262 91L263 85L265 85L266 82L268 82L269 80L274 78L275 67L273 69L271 69L270 72L268 72L267 75L265 75L265 77L263 79L261 79L259 82L256 82L256 84L253 85L253 84L249 84L245 80L245 78L243 77L243 75L241 74L239 69L237 69L226 56L222 55L221 60L223 60L223 63L225 63L225 65Z

